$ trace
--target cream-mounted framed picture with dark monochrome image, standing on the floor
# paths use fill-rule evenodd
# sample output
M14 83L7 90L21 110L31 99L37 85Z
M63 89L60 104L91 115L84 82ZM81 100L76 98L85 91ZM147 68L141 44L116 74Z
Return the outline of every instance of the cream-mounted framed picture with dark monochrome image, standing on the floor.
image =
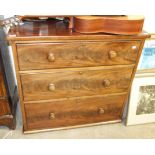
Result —
M155 122L155 73L137 74L129 97L126 125Z

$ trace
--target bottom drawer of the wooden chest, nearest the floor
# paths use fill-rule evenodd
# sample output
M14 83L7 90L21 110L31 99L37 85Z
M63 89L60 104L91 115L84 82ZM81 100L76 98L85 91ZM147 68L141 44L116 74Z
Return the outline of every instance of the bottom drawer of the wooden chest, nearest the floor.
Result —
M25 103L27 129L47 129L121 119L126 94Z

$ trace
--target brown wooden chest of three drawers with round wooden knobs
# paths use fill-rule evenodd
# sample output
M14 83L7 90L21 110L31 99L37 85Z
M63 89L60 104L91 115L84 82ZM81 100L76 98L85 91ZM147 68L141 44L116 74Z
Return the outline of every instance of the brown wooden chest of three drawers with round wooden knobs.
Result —
M61 21L12 29L24 132L120 122L147 37L82 35Z

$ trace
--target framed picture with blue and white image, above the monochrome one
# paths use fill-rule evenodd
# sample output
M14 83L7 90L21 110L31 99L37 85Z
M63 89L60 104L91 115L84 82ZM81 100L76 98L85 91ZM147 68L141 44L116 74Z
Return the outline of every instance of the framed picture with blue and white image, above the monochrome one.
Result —
M155 34L147 39L138 64L138 72L155 70Z

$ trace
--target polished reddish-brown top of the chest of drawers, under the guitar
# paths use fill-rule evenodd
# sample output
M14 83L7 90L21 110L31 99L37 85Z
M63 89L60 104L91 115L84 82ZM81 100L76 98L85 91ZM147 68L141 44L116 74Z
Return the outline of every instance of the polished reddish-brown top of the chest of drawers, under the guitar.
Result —
M146 32L137 35L110 35L105 33L99 34L80 34L68 29L68 25L58 20L47 22L24 22L23 25L12 28L8 33L8 40L12 41L41 41L49 40L60 42L61 40L138 40L150 37Z

